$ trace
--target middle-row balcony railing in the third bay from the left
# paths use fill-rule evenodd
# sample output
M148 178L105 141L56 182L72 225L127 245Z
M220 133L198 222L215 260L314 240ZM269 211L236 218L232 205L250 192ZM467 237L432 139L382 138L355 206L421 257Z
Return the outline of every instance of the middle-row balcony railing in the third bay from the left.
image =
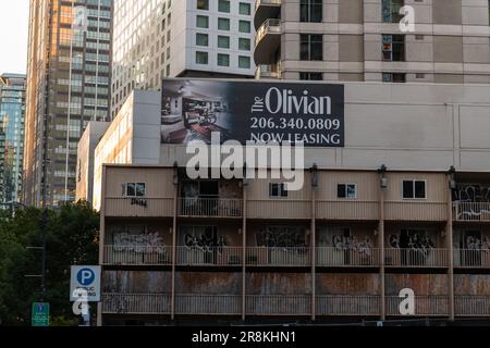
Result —
M246 262L250 266L308 266L310 248L247 248Z

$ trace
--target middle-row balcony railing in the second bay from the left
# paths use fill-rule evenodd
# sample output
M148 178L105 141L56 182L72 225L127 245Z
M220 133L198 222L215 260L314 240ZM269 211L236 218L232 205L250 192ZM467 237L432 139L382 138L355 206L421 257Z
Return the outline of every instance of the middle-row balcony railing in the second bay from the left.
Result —
M176 247L177 265L242 265L240 247Z

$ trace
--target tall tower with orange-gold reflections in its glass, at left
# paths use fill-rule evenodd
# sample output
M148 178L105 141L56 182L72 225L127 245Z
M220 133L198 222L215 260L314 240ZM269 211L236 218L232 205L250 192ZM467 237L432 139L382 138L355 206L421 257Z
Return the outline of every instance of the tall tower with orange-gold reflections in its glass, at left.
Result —
M112 1L32 0L23 199L75 199L76 149L109 116ZM44 199L46 197L46 199Z

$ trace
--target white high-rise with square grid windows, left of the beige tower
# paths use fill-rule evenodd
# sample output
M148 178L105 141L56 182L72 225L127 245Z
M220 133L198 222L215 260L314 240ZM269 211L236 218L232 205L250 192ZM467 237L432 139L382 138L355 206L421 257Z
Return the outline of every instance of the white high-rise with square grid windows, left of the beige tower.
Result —
M115 0L114 119L135 88L163 77L253 77L254 0Z

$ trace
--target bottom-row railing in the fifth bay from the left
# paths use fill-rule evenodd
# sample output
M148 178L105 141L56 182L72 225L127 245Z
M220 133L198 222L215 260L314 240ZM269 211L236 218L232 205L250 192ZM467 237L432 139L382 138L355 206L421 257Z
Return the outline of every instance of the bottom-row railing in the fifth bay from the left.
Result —
M406 315L400 306L403 299L396 296L387 297L387 314L391 316ZM414 316L446 316L449 314L448 296L416 296Z

